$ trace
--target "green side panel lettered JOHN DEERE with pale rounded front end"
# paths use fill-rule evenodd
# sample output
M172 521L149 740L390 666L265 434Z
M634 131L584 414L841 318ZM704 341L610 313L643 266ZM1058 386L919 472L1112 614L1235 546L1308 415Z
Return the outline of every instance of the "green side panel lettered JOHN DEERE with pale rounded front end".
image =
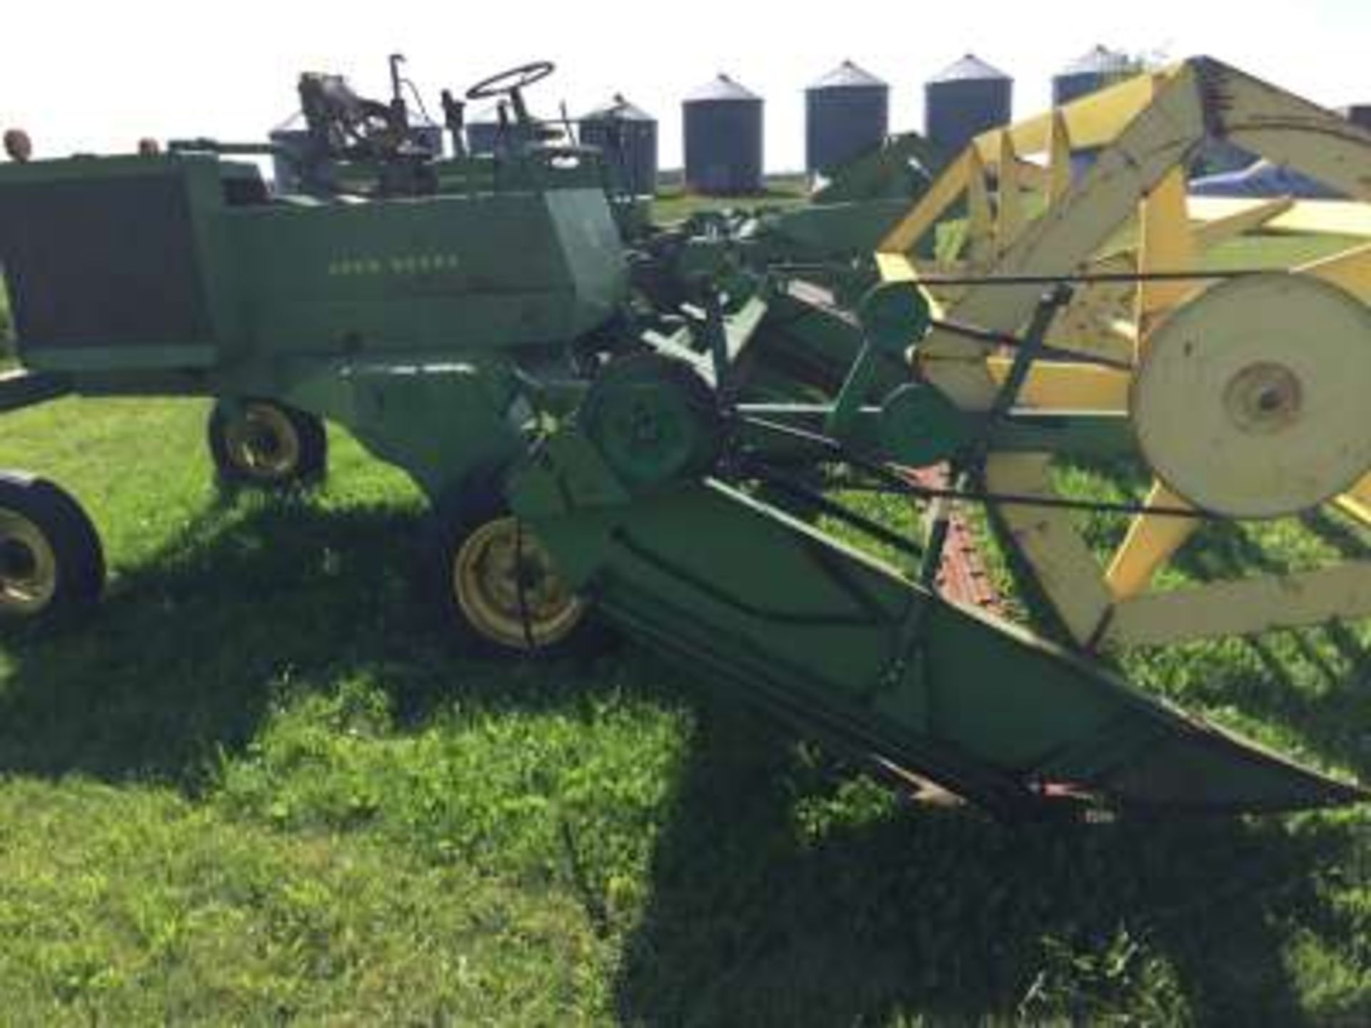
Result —
M598 191L223 215L248 354L496 350L574 339L624 299Z

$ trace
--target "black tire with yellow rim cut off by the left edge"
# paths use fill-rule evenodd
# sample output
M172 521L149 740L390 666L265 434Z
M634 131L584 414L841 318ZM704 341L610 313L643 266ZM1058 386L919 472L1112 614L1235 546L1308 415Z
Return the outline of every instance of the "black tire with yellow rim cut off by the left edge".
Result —
M0 617L62 620L103 591L100 536L81 504L47 478L0 472Z

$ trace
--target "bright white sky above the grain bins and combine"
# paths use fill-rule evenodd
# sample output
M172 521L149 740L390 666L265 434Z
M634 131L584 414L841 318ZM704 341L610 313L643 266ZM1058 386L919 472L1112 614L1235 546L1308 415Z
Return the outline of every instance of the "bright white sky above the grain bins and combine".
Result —
M144 136L258 141L298 110L303 70L385 99L392 52L435 114L444 86L553 60L557 73L528 93L536 114L565 101L574 115L621 92L658 118L662 167L681 162L681 97L720 71L766 101L768 170L802 167L803 89L843 59L890 84L895 132L923 127L923 82L967 52L1016 79L1024 118L1047 106L1053 73L1095 44L1208 53L1326 106L1371 103L1368 0L11 3L0 129L27 130L40 158L126 152Z

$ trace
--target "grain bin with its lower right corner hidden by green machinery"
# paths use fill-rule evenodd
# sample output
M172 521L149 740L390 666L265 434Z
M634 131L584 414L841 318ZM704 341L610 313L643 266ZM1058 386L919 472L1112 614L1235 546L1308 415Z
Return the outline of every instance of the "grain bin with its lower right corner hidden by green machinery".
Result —
M805 89L805 170L818 174L880 145L890 86L845 60Z

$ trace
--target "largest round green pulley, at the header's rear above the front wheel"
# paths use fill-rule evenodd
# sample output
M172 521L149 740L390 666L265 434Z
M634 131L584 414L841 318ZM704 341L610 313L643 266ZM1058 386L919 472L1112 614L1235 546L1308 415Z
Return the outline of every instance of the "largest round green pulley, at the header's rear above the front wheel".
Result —
M631 492L709 473L724 439L714 392L690 365L659 354L610 362L577 418Z

